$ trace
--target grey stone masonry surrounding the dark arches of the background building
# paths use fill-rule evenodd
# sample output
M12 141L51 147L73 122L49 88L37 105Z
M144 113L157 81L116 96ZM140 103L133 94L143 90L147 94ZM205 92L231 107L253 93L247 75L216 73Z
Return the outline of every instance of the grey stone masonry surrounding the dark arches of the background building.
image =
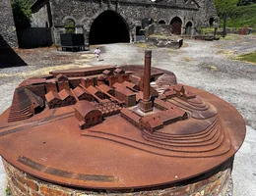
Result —
M141 25L143 19L152 19L156 23L162 20L166 24L170 24L173 18L178 17L182 21L182 33L185 32L188 22L191 22L193 27L208 26L210 18L217 17L214 1L198 0L196 1L197 3L193 2L160 1L160 3L153 3L152 1L142 0L50 0L55 43L58 42L59 32L63 31L64 23L67 19L75 22L77 31L89 34L91 25L96 20L96 17L106 10L113 10L124 19L129 27L130 35L135 34L136 25ZM41 9L45 10L44 7ZM37 15L34 14L33 19L34 21L45 21L45 16L41 12ZM88 39L88 37L85 38L86 40Z

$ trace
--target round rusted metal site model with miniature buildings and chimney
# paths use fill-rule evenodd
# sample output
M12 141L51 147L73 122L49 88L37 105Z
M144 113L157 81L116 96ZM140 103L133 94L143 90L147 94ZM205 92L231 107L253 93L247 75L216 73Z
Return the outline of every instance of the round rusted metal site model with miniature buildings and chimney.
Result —
M1 156L72 187L134 189L210 171L241 146L245 124L224 100L145 66L104 66L23 81L0 118ZM196 166L196 167L195 167Z

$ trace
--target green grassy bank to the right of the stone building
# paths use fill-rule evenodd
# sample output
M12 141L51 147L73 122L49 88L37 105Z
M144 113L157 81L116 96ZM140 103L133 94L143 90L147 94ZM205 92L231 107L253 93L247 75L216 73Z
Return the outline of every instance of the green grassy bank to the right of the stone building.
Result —
M256 2L255 0L215 0L221 24L224 16L227 17L228 27L255 27Z

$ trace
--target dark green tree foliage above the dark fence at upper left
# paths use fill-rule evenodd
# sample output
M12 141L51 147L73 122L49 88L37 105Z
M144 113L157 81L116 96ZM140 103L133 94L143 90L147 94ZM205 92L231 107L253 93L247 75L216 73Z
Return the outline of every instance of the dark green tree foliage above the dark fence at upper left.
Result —
M17 30L31 26L31 6L33 0L11 0L14 22Z

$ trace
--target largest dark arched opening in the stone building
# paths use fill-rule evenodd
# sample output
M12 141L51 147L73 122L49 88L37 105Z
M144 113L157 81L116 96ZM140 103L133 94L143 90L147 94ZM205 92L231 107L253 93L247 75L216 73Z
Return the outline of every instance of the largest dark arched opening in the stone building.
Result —
M130 42L128 25L116 12L105 11L91 26L89 42L93 45Z

